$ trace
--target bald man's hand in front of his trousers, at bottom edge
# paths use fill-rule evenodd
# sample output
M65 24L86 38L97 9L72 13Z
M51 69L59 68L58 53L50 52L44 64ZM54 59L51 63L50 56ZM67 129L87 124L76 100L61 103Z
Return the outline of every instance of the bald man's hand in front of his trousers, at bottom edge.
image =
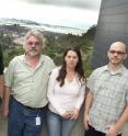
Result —
M119 129L116 127L115 124L106 126L108 128L108 132L106 133L106 136L117 136Z

